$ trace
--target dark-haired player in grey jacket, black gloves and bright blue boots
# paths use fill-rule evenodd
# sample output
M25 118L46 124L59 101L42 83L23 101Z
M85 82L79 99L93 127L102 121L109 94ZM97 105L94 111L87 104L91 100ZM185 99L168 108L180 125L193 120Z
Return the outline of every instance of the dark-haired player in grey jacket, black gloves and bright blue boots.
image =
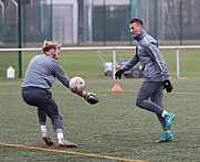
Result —
M173 139L172 132L169 129L175 119L175 115L167 112L162 106L162 89L166 89L167 93L172 91L172 85L168 79L169 74L166 62L159 52L157 41L144 30L141 20L131 19L129 29L133 39L137 42L136 53L123 69L116 72L116 79L120 79L125 71L129 71L140 62L145 80L139 89L136 105L157 115L164 133L161 138L155 142L169 142ZM150 100L148 100L149 98Z

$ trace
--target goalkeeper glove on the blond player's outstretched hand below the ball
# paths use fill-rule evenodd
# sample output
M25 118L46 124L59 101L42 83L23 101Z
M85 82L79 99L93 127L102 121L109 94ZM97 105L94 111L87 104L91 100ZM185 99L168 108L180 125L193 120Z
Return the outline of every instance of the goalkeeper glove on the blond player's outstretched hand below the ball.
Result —
M83 90L82 93L77 93L77 95L83 97L91 105L97 104L99 100L94 93Z

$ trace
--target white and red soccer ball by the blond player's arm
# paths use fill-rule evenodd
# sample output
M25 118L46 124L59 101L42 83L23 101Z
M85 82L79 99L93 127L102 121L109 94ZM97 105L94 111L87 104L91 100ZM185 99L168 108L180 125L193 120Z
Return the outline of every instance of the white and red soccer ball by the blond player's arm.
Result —
M85 80L82 77L73 77L70 79L69 87L73 93L82 93L85 89Z

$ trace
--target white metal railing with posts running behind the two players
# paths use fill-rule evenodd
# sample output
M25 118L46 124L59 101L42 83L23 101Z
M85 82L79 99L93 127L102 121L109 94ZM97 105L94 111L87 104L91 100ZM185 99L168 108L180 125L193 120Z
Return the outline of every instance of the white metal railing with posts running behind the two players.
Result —
M90 51L90 50L112 50L113 51L113 79L115 79L115 66L116 66L116 51L117 50L135 50L136 46L96 46L96 47L62 47L62 51ZM180 64L179 64L179 53L180 50L200 50L200 45L193 46L159 46L160 50L176 50L176 63L177 63L177 78L180 78ZM15 51L41 51L41 47L34 48L0 48L0 52L15 52Z

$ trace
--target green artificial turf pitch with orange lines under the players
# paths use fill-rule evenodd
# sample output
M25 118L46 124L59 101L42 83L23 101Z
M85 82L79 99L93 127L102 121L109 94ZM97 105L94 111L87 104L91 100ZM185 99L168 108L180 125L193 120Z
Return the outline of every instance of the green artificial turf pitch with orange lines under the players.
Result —
M164 106L176 115L171 127L175 140L161 144L154 144L162 133L157 117L135 106L141 82L86 78L86 90L96 93L99 98L95 106L55 82L52 93L63 118L66 139L80 145L67 149L56 144L50 120L48 128L55 144L46 147L42 141L36 108L21 98L22 79L1 80L0 161L199 161L199 79L173 78L173 93L165 93ZM112 91L115 84L119 84L123 91Z

